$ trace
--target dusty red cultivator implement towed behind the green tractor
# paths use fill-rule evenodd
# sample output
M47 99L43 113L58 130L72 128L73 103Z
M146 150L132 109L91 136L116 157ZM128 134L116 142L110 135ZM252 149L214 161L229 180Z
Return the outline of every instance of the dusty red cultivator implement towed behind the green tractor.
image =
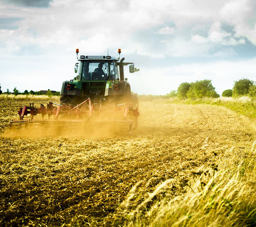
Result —
M31 103L20 108L18 114L19 119L10 121L10 128L70 129L71 133L85 130L90 133L107 128L109 131L131 133L132 129L137 128L139 112L126 103L102 106L87 99L76 106L49 102L46 107L41 104L40 108L35 108ZM41 119L38 118L40 115Z

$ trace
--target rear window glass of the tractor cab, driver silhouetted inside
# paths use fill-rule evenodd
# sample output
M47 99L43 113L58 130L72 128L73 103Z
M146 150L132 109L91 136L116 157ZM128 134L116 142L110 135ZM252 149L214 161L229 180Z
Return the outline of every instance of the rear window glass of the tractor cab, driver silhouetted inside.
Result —
M116 79L116 67L114 61L80 61L78 69L77 79Z

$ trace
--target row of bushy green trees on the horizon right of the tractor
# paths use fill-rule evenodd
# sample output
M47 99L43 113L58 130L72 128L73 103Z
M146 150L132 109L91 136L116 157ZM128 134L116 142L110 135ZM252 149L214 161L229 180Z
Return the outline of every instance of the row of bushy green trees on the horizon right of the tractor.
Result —
M198 80L192 83L181 83L177 91L171 91L167 94L170 97L178 97L179 99L201 99L204 97L218 98L219 94L212 86L210 79ZM256 84L249 79L239 79L234 82L233 89L227 89L222 92L224 97L250 96L256 97Z

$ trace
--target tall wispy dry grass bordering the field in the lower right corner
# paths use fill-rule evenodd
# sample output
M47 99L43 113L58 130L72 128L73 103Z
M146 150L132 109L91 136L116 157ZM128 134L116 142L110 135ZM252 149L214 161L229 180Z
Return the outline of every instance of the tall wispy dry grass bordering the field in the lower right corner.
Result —
M252 149L253 151L253 149ZM233 149L229 152L233 152ZM255 150L241 157L226 157L212 169L200 166L188 182L188 190L179 196L165 196L144 210L133 208L124 220L126 226L255 226L256 166ZM164 183L167 183L165 181ZM163 184L163 183L162 183ZM171 184L165 193L172 191ZM160 185L161 186L161 185ZM160 187L157 188L159 190ZM133 192L133 197L137 195ZM128 205L126 205L128 206Z

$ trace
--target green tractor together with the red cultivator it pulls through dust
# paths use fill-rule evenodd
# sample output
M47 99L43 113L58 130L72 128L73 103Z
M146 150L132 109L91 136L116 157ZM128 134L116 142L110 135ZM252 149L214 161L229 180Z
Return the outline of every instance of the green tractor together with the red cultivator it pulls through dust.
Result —
M76 77L64 81L60 93L60 104L49 102L36 108L33 103L18 111L19 119L10 122L10 127L50 127L60 129L71 127L75 131L97 128L122 129L131 133L137 128L139 103L137 94L131 92L124 66L129 65L130 73L139 71L132 62L112 56L78 57L75 64ZM119 66L119 67L118 67ZM30 118L25 118L30 114ZM34 118L41 115L42 119ZM44 119L44 116L48 119ZM53 116L53 118L51 117ZM52 118L52 119L51 119Z

